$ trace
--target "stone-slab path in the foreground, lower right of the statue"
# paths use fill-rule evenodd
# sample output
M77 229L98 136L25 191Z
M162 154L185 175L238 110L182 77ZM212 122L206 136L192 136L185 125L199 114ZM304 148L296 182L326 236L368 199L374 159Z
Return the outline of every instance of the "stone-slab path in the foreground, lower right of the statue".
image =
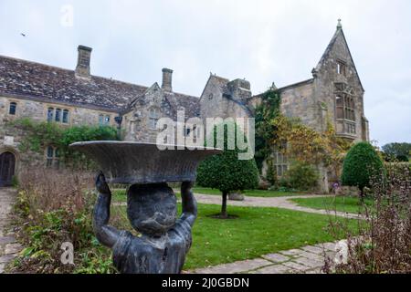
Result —
M321 274L325 258L333 260L336 243L307 245L260 258L189 271L193 274Z

